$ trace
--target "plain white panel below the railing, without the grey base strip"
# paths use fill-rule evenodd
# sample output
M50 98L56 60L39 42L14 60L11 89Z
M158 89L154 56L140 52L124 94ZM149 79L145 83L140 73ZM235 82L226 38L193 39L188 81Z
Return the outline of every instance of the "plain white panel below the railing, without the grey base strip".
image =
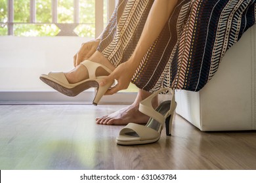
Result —
M69 71L82 37L0 37L0 92L52 91L41 73Z

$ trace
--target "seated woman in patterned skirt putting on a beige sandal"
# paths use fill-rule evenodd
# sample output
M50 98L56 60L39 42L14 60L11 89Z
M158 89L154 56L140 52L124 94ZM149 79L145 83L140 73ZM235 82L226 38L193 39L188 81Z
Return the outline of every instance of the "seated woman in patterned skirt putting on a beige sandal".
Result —
M139 88L134 103L96 118L96 123L145 124L150 114L139 111L144 99L165 87L199 91L217 71L226 50L253 24L253 0L119 0L102 35L83 44L74 56L75 69L41 79L66 95L97 87L95 103L103 94L133 82ZM77 84L98 76L102 77L87 86ZM70 93L58 79L67 87L77 84L76 89ZM114 80L116 86L108 90ZM152 106L158 106L157 97Z

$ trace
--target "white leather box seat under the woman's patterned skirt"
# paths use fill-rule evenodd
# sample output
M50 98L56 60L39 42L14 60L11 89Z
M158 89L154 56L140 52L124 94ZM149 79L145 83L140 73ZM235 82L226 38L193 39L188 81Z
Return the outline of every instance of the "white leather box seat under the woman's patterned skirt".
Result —
M177 114L202 131L256 129L256 27L225 54L200 92L176 90Z

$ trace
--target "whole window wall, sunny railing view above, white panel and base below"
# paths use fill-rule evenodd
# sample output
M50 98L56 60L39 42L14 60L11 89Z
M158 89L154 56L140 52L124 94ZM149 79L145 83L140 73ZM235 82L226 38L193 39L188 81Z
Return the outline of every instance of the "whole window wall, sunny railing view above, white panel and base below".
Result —
M39 75L69 71L81 43L100 35L115 5L115 0L0 0L0 103L91 103L93 88L66 97ZM129 88L101 102L131 103L136 91Z

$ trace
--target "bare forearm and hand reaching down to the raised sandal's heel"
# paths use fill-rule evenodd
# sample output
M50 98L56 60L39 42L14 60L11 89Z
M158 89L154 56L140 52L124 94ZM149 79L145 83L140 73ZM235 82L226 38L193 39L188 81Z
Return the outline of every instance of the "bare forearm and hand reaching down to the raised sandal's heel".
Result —
M133 52L131 58L125 63L121 63L116 69L109 75L105 80L100 83L104 86L110 80L117 80L116 86L108 90L106 95L112 95L119 90L124 90L128 88L131 78L135 74L136 69L140 65L143 56L146 54L150 46L160 35L163 26L166 24L171 12L173 11L177 0L155 0L148 18L144 25L142 34L140 36L139 42Z

